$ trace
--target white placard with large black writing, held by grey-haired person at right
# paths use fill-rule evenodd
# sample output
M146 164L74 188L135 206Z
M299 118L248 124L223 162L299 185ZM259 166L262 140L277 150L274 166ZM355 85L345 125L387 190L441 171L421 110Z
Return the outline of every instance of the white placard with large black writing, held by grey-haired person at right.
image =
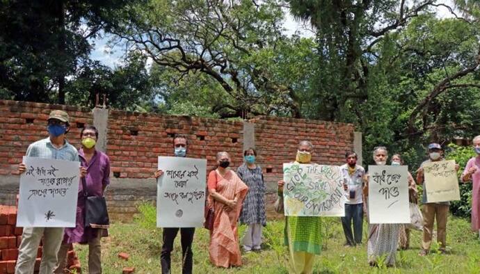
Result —
M408 166L369 166L369 222L410 223Z

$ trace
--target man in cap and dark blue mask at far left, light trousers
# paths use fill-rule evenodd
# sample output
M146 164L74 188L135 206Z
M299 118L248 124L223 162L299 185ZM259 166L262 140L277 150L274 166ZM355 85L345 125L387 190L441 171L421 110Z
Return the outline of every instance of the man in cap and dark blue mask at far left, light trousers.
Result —
M51 111L47 131L49 137L29 145L26 156L64 161L80 161L79 152L65 139L68 132L68 114L65 111ZM18 171L25 171L24 163L19 164ZM80 177L85 176L86 169L80 168ZM24 227L22 243L18 248L16 274L33 273L38 245L43 237L42 262L40 273L53 273L56 255L63 239L63 227Z

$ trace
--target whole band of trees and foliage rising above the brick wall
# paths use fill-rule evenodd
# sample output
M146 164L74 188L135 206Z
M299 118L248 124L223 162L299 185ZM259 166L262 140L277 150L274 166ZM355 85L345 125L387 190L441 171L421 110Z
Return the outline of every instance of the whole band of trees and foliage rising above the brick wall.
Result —
M99 93L131 111L350 122L365 155L388 145L410 163L480 131L478 1L2 3L3 99L93 106ZM312 37L287 35L289 14ZM104 34L121 65L92 60Z

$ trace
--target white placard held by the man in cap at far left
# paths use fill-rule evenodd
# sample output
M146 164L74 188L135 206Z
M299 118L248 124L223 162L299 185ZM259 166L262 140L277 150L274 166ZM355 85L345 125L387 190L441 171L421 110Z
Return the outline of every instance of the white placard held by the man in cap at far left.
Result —
M17 227L75 227L80 162L24 156Z

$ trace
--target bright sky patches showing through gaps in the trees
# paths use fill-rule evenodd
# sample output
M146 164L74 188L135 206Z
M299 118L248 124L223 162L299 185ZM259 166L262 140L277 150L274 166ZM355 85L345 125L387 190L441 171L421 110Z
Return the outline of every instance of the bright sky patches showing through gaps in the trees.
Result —
M454 6L452 0L440 0L437 1L437 3L445 3L448 6ZM454 17L454 15L452 15L449 10L443 6L438 7L437 11L438 17L440 18ZM283 26L286 29L287 35L293 35L296 32L303 37L312 37L314 35L312 29L308 29L308 23L296 21L288 12L286 13ZM122 60L122 55L125 53L125 49L119 46L113 48L109 47L108 42L110 38L111 37L108 35L104 35L104 37L95 40L95 49L92 51L90 57L93 60L100 61L100 63L103 65L113 68L120 65L120 61Z

